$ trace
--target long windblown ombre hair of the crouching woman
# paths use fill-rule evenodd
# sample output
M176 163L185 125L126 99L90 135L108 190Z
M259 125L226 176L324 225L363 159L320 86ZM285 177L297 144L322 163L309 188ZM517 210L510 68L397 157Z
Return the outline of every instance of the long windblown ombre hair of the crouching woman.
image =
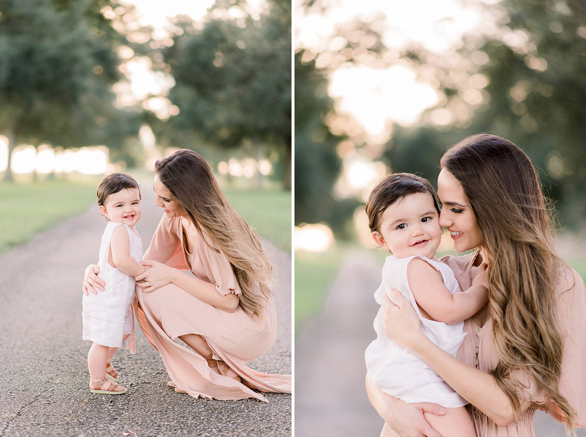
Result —
M212 169L199 153L180 149L160 159L155 172L195 224L212 250L226 255L242 294L240 306L263 318L263 304L272 295L272 265L258 235L228 203ZM202 230L216 244L212 247Z

